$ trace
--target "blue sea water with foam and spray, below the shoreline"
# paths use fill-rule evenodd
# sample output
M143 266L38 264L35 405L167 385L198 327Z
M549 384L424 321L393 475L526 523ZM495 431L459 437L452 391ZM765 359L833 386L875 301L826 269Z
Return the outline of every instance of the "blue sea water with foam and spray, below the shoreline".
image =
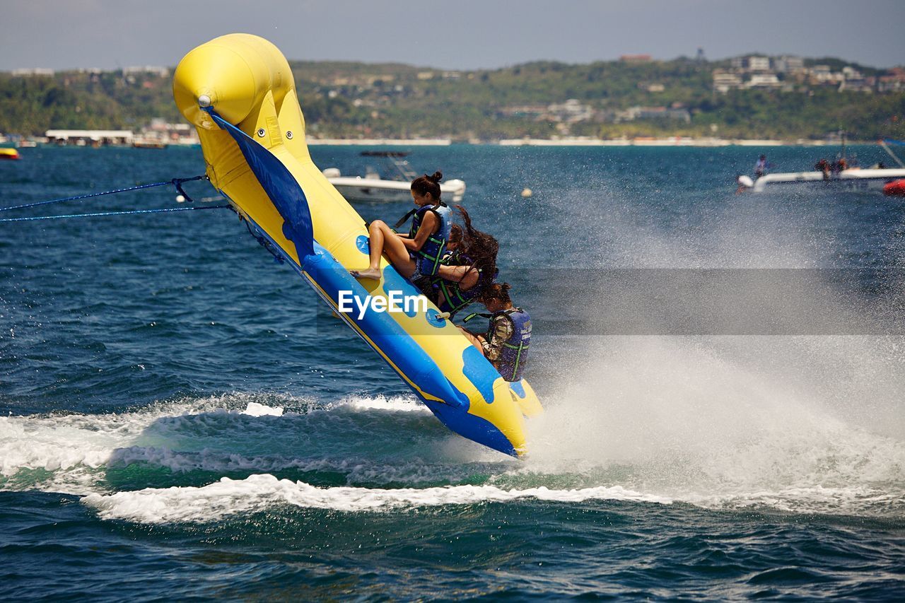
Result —
M522 460L446 430L228 210L0 224L0 596L902 598L905 202L736 195L760 150L409 158L466 181L532 314ZM21 152L3 206L204 168ZM70 205L0 217L187 206Z

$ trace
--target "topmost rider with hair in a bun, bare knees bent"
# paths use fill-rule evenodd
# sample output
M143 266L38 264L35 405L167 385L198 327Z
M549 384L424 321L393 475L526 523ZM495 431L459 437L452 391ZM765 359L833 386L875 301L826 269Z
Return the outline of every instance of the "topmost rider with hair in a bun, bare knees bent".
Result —
M353 276L380 279L380 256L385 252L405 278L418 280L437 273L450 236L450 208L440 200L442 179L441 172L434 172L433 176L424 174L412 181L412 200L416 207L398 224L412 216L408 235L396 233L383 220L368 225L370 265L367 270L350 270Z

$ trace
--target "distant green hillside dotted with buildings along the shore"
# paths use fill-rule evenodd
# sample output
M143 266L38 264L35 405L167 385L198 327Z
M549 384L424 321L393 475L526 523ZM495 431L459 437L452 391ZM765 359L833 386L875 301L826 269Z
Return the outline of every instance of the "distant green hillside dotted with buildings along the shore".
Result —
M853 139L905 138L905 84L897 88L903 83L897 78L905 81L905 74L884 75L832 58L804 64L795 74L758 75L762 87L729 61L684 58L529 62L462 72L362 62L291 62L291 67L310 134L320 137L816 139L845 129ZM817 66L824 80L811 71ZM846 67L844 76L836 73ZM714 72L741 83L715 91ZM139 129L153 118L181 120L169 77L0 73L3 132Z

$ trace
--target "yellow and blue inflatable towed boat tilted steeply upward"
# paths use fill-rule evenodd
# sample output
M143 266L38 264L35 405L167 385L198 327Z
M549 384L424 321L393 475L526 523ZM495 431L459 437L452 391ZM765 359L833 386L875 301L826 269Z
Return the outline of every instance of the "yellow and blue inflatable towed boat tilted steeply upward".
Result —
M212 185L252 235L300 273L443 425L502 453L525 453L525 417L542 412L528 382L504 381L426 298L399 304L419 292L386 257L379 281L348 273L367 266L367 228L311 160L295 81L276 46L248 34L202 44L176 67L173 95L198 130ZM348 311L349 299L359 307L367 300L372 311Z

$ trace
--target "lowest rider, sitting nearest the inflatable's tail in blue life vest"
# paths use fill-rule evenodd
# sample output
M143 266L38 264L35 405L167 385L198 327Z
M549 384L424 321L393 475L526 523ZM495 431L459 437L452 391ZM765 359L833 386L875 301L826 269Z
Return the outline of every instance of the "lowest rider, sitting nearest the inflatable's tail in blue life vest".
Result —
M486 333L472 333L464 327L459 329L500 371L502 378L519 381L531 344L531 317L528 312L512 305L510 289L508 282L494 282L481 293L480 302L491 311L491 314L481 314L491 320ZM476 315L470 315L465 321Z

